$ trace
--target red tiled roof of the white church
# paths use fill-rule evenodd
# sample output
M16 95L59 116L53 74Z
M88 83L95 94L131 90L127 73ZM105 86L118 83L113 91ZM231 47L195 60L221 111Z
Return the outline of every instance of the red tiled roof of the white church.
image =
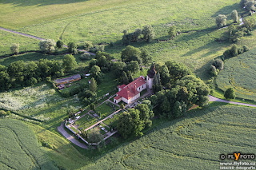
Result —
M126 85L121 91L119 91L117 94L120 97L124 97L127 100L130 98L136 96L139 92L137 90L138 87L146 84L146 81L143 77L139 77L135 81L132 81L129 85Z

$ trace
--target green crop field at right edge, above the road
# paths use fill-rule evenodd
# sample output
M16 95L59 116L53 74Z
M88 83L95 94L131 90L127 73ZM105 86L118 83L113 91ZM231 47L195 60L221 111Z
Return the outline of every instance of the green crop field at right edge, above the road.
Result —
M237 97L256 101L256 49L230 58L225 62L216 83L219 89L225 91L234 87Z

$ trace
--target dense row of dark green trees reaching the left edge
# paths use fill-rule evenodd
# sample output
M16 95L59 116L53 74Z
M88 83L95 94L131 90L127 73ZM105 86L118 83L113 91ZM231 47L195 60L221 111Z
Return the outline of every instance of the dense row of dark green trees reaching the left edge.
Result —
M23 85L34 85L39 81L50 81L62 77L64 71L74 69L75 58L67 54L61 61L40 59L39 61L14 61L7 67L0 65L0 90Z

